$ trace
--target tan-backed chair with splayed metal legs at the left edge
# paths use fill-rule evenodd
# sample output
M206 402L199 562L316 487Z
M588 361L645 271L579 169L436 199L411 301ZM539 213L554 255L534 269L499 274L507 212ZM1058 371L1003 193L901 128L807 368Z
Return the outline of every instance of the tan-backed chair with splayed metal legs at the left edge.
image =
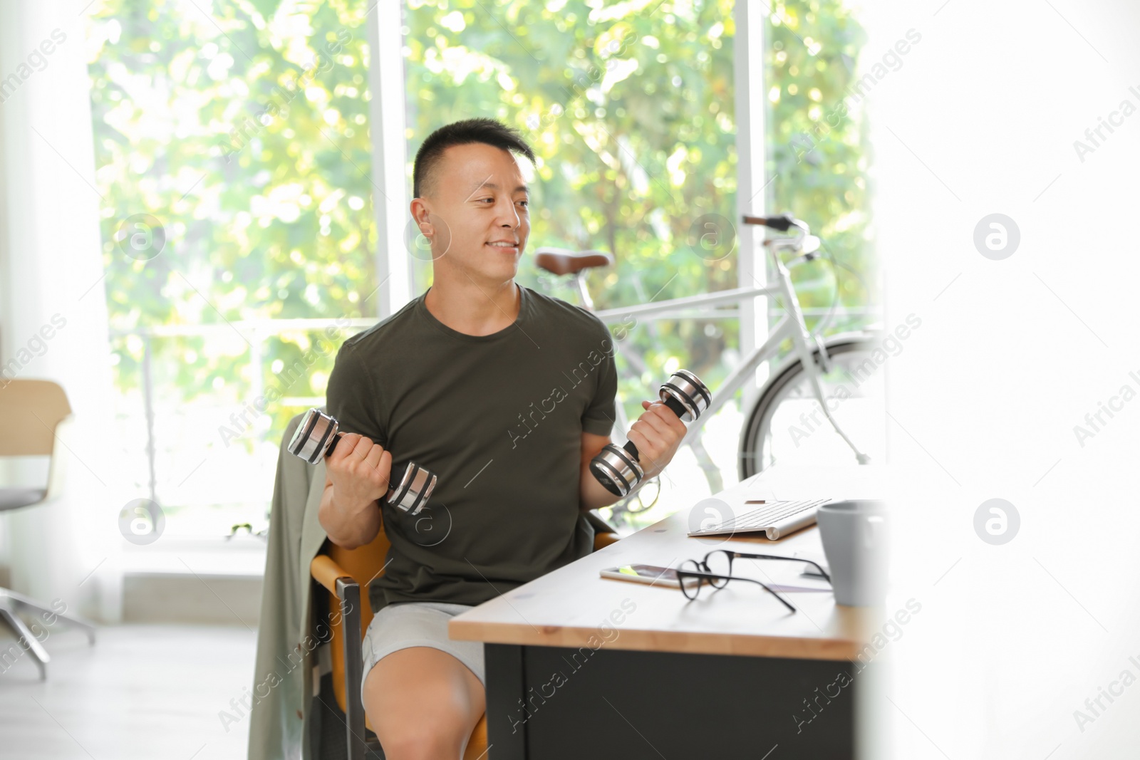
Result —
M71 419L71 404L63 387L51 381L13 379L0 385L0 457L48 457L48 482L43 488L0 487L0 513L23 509L49 501L63 493L64 459L56 431ZM0 626L8 628L31 652L40 669L40 680L48 677L51 657L27 624L16 614L34 614L48 620L62 620L87 634L88 641L95 644L95 626L90 622L63 615L42 602L30 599L10 589L0 587ZM36 621L39 622L39 621Z

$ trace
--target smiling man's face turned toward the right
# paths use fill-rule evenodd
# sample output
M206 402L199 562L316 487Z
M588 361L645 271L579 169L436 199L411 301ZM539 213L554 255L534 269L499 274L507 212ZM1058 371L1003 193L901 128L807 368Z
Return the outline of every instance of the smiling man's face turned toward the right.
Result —
M451 146L424 191L427 197L413 202L412 212L423 230L426 211L437 277L454 272L494 286L515 276L530 213L527 182L512 153L483 142Z

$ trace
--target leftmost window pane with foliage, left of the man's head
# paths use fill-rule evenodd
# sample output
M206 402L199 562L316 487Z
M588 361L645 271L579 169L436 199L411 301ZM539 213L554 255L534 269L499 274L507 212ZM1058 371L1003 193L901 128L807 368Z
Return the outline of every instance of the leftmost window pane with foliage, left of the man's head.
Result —
M262 528L285 423L377 312L367 5L99 2L121 458L171 533Z

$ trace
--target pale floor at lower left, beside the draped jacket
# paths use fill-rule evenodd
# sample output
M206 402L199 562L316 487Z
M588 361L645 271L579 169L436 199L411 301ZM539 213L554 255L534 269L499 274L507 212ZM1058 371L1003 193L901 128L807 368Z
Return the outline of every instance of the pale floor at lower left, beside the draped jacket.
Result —
M249 717L227 730L218 713L251 685L255 646L242 626L104 627L93 647L54 632L47 681L26 654L0 664L0 759L245 758Z

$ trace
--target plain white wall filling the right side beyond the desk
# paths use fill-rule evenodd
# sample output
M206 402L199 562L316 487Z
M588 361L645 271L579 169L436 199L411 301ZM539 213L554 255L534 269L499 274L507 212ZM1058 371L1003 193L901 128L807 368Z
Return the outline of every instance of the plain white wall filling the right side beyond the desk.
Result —
M1140 395L1093 438L1074 426L1140 392L1140 7L896 0L865 18L864 68L921 34L869 105L887 325L922 320L888 367L896 603L922 605L879 701L894 757L1138 757L1140 681L1099 716L1084 701L1140 679ZM1074 140L1125 99L1137 113L1082 161ZM992 213L1020 230L1003 260L974 243ZM1003 545L975 531L991 498L1020 515Z

